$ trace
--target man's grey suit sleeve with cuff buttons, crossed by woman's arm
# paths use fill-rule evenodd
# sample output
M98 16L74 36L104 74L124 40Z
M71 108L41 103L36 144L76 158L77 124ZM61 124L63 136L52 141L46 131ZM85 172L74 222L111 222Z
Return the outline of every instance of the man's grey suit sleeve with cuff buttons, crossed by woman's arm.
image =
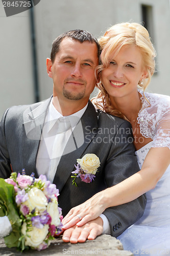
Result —
M107 187L139 171L132 140L131 125L125 121L117 130L105 166ZM109 220L111 235L118 237L135 223L143 215L146 202L145 195L142 195L129 203L107 208L103 214Z

